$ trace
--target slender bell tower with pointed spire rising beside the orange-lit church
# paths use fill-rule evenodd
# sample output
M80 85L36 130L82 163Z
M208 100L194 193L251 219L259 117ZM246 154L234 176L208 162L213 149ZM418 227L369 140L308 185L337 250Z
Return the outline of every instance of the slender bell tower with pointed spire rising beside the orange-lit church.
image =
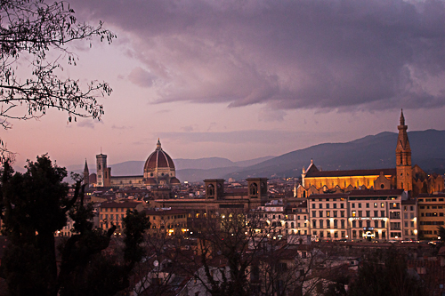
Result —
M397 128L399 129L397 147L395 148L397 188L411 191L413 189L411 148L409 147L408 126L405 125L403 109L401 110L401 124Z

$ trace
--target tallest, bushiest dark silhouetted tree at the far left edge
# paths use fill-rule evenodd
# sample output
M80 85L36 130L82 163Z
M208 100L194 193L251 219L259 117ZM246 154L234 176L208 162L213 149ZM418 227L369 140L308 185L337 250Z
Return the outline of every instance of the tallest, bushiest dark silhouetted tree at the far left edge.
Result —
M69 187L62 181L67 171L48 156L28 161L26 168L25 173L13 174L10 164L4 164L2 232L11 244L2 267L12 293L52 295L57 287L53 233L65 226L75 198L67 197Z

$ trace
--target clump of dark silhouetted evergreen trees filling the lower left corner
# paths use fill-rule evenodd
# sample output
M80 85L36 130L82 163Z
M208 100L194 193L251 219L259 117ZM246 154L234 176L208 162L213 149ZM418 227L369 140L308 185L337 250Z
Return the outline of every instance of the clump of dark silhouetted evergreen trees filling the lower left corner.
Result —
M83 202L81 180L68 198L68 184L62 182L66 176L48 156L28 161L23 174L4 164L0 205L10 244L2 276L13 295L114 295L128 286L134 263L141 260L141 236L150 225L143 213L128 213L122 254L120 248L115 255L105 253L116 227L107 232L93 228L93 206ZM59 245L58 272L54 233L66 225L67 213L75 223L73 235ZM119 260L124 253L133 255Z

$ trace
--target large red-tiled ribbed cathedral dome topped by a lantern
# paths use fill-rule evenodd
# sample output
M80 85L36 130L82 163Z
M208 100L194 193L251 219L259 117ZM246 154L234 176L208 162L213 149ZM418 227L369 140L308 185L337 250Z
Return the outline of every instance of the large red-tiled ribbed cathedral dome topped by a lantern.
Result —
M150 154L143 167L143 180L146 185L179 185L172 158L161 148L158 139L156 149Z

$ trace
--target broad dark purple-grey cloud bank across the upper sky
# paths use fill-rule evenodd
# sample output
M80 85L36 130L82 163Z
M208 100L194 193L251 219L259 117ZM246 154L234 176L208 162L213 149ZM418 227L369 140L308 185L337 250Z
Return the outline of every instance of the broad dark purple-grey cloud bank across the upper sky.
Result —
M74 5L132 36L129 54L150 71L132 81L156 87L157 102L339 110L445 104L443 1Z

